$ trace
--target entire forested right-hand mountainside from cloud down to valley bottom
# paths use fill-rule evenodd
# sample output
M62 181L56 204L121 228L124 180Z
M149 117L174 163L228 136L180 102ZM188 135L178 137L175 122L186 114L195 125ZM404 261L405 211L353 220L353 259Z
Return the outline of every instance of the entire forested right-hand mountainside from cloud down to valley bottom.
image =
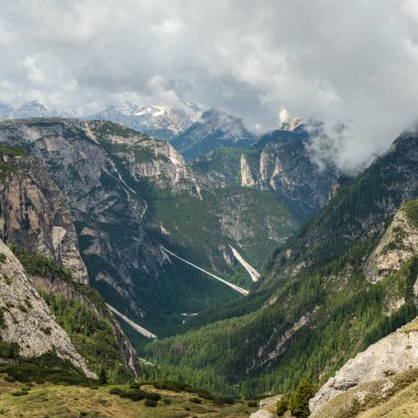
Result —
M191 330L184 336L148 344L148 360L161 364L168 376L180 373L211 391L277 393L294 388L302 376L323 380L370 343L415 318L417 258L409 242L415 242L416 215L408 209L414 204L392 217L396 204L418 197L417 148L417 136L399 138L353 180L358 186L349 193L341 187L299 238L276 254L270 273L256 284L251 304L202 314L189 322ZM394 167L398 177L393 175ZM336 207L340 218L333 215ZM404 213L408 213L407 226L402 222ZM337 248L329 248L329 241L353 224L354 237L342 235ZM391 231L398 233L387 251L398 254L398 263L388 268L386 278L369 282L367 261L375 254L378 260L381 240L386 242L385 232ZM311 254L317 251L314 264ZM210 324L205 326L205 315ZM215 355L212 346L221 355ZM201 369L205 378L195 372Z

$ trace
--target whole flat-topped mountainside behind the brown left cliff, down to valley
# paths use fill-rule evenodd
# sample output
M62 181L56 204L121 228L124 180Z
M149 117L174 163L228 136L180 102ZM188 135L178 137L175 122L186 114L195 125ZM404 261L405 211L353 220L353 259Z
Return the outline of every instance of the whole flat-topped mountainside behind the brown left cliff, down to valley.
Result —
M43 162L68 201L90 284L158 336L182 326L185 312L239 297L161 245L249 288L239 258L262 268L298 227L278 196L213 187L168 143L114 123L13 120L0 132L3 143Z

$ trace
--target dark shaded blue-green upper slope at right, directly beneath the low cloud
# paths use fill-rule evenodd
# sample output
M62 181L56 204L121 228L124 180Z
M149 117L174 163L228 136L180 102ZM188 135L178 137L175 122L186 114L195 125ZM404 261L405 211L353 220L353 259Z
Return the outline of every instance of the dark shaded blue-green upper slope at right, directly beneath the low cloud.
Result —
M338 197L289 243L285 265L294 265L301 256L309 265L340 254L372 224L391 217L403 201L416 198L417 142L416 132L404 133L364 174L343 179Z

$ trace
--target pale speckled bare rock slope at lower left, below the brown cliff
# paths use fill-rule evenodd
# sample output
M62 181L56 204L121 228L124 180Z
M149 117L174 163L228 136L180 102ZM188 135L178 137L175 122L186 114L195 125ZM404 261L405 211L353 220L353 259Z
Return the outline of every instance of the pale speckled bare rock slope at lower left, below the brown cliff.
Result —
M86 376L97 377L55 321L18 258L1 241L0 254L1 339L16 342L20 354L28 358L54 351L58 358L82 370Z

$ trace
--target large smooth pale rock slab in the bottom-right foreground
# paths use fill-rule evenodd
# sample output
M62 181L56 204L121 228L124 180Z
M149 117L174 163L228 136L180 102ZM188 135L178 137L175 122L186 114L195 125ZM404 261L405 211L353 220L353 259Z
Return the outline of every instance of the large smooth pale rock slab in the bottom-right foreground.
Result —
M418 367L417 319L369 346L340 369L309 402L311 417L319 416L328 402L349 389L415 367Z

